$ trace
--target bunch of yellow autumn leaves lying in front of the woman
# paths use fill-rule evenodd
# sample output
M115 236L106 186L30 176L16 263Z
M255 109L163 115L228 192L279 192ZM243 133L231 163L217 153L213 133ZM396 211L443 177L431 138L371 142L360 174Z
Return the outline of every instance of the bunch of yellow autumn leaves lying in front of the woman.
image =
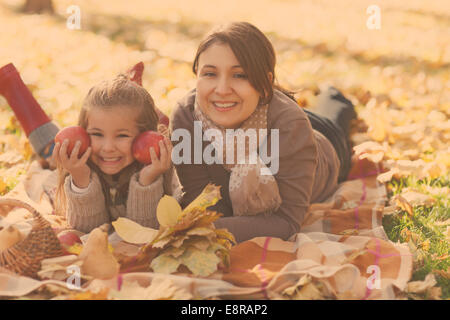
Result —
M229 250L236 243L226 229L214 228L213 222L221 214L206 210L220 198L220 187L211 184L184 210L175 198L164 196L157 207L159 231L126 218L119 218L113 226L126 242L146 243L142 252L158 250L150 264L154 272L169 274L184 266L194 275L206 277L229 266Z

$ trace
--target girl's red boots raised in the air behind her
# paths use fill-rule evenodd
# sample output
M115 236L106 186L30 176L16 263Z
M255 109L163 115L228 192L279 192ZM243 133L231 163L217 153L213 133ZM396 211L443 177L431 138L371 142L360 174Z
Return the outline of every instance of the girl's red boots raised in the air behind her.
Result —
M143 71L144 64L140 62L127 73L130 80L142 85ZM0 68L0 95L8 101L33 150L42 159L49 159L53 152L54 138L60 129L42 110L12 63ZM159 122L168 127L169 118L160 110L156 111Z

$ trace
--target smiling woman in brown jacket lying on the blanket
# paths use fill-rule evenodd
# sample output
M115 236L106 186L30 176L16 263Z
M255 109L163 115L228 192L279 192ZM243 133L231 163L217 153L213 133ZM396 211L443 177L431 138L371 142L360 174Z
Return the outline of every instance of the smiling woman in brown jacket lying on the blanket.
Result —
M186 151L177 148L183 142L176 141L177 129L191 136L190 161L175 161L185 192L182 206L208 183L221 186L222 199L212 209L223 217L215 225L227 228L238 242L259 236L286 240L299 232L310 203L332 195L350 168L352 104L330 88L322 94L316 114L303 110L275 85L275 62L272 44L255 26L239 22L215 30L201 42L194 59L196 88L172 113L173 158L186 159L181 154ZM210 139L199 137L198 126L206 136L216 134ZM225 138L230 129L235 136L242 135L238 129L267 132L267 144L258 140L256 162L249 160L248 142ZM201 149L196 148L199 143ZM214 156L223 153L226 159L231 154L233 161L199 163L211 144ZM270 163L263 161L263 145L275 151Z

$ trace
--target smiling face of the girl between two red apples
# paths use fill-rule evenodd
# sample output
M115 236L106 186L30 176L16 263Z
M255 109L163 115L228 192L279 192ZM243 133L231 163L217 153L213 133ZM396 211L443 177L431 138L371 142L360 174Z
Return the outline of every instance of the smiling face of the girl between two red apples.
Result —
M113 175L135 161L131 150L139 134L138 109L114 106L94 107L89 111L86 131L91 138L91 161L102 172Z

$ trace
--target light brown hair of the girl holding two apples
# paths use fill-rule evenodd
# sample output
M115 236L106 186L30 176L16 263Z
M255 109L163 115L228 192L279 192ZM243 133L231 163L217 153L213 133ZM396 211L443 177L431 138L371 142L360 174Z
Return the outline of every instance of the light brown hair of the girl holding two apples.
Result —
M113 80L102 81L89 90L83 101L78 125L85 129L87 128L89 112L94 108L110 109L117 106L140 109L140 113L136 117L136 125L139 132L147 130L157 131L158 114L156 113L153 98L146 89L131 81L124 74L119 74ZM87 163L92 169L99 171L90 160ZM64 172L62 168L58 168L58 172L56 212L64 214L66 210L64 181L68 173Z

